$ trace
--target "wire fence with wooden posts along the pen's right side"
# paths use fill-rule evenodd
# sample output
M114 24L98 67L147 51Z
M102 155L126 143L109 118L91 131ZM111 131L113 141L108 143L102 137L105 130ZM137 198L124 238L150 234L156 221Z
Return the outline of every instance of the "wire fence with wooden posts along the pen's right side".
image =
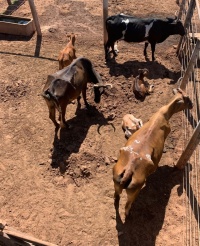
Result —
M183 186L186 193L186 216L184 225L184 245L200 245L200 8L198 0L183 0L179 17L186 28L181 38L177 54L181 62L181 88L186 89L193 101L192 114L183 115L183 153L177 167L184 167ZM186 117L185 117L186 116Z

